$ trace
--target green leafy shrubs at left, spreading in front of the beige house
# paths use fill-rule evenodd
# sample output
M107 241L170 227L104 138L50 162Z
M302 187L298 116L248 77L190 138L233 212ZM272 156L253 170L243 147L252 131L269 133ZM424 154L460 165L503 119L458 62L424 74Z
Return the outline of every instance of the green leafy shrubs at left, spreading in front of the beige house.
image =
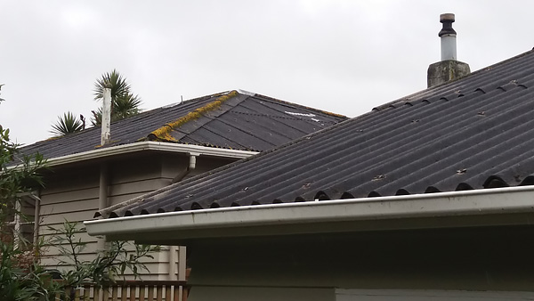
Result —
M13 161L19 164L13 166ZM67 288L90 284L96 287L114 281L126 272L135 277L141 270L143 257L158 251L158 247L134 245L134 252L128 252L128 242L114 241L108 248L90 260L82 260L86 242L79 238L85 229L77 223L65 221L59 229L53 230L51 240L25 240L16 228L13 231L13 215L22 213L17 209L20 194L34 191L43 186L39 172L45 167L41 155L23 156L19 145L11 142L9 129L0 126L0 300L55 300L58 294L65 294ZM59 247L63 264L74 266L61 271L46 270L40 263L40 256L50 246ZM53 280L59 278L60 281ZM69 296L64 296L69 300Z

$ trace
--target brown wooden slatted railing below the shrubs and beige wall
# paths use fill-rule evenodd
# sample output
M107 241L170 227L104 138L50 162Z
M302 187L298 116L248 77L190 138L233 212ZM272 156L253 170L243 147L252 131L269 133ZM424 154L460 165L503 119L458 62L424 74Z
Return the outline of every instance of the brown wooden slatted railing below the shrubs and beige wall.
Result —
M186 301L188 295L186 281L117 281L101 289L67 289L56 301Z

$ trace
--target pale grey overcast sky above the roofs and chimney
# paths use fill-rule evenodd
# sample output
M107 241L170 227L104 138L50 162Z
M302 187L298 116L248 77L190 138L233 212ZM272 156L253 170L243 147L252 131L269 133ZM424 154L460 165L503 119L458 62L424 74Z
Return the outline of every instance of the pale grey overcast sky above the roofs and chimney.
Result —
M0 1L0 124L50 137L117 69L142 109L244 89L360 115L426 87L439 15L472 70L532 49L530 1Z

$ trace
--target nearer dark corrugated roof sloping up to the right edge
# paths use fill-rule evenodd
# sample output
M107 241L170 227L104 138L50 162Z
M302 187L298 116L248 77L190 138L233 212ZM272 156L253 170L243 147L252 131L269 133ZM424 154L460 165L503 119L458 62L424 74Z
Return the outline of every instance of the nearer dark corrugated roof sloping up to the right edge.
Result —
M533 117L530 51L101 214L530 185Z

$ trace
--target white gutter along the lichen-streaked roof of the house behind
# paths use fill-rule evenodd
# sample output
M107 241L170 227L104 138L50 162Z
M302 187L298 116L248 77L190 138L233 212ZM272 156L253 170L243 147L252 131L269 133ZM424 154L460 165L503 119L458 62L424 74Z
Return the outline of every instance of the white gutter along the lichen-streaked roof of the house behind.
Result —
M47 159L47 166L53 167L62 164L69 164L89 159L100 159L109 156L121 155L129 152L141 150L159 150L168 152L195 153L204 156L225 157L235 159L245 159L257 154L257 151L218 149L214 147L198 146L191 144L180 144L172 142L134 142L124 145L89 150L77 154Z

